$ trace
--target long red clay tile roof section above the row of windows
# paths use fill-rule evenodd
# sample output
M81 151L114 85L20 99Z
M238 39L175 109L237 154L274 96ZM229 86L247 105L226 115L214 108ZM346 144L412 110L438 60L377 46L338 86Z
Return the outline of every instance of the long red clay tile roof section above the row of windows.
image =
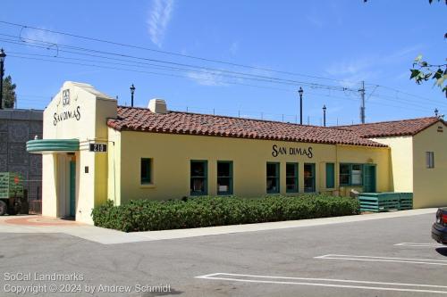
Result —
M386 147L338 128L304 126L269 120L249 120L181 111L159 114L146 108L118 106L117 119L107 125L118 131L146 131L198 136L283 140L316 144Z

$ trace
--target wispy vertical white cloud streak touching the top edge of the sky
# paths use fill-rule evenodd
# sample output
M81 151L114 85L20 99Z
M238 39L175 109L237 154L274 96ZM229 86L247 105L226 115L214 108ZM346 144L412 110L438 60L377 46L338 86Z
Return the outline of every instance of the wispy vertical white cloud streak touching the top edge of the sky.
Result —
M173 14L173 0L154 0L148 15L148 33L150 40L161 47L164 33Z

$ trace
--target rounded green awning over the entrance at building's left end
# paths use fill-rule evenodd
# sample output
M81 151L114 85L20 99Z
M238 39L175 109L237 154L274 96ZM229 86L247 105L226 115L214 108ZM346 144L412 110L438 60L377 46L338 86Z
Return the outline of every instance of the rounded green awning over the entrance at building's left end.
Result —
M35 139L27 142L28 153L74 153L79 150L79 139Z

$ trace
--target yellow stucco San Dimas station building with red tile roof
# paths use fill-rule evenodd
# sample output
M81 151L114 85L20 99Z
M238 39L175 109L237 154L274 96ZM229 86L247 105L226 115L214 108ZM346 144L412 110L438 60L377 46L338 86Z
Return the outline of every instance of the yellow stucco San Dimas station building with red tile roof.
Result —
M447 205L447 136L438 118L323 128L117 106L65 82L44 111L42 214L92 223L107 199L190 195L412 192L415 207Z

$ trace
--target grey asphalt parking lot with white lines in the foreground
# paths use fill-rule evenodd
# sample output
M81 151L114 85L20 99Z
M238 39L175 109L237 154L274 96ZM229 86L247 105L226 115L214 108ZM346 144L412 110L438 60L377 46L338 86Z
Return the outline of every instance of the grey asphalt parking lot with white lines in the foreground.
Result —
M63 234L3 233L0 295L442 295L447 247L431 239L433 221L434 214L424 214L108 245ZM17 279L28 274L30 280ZM60 275L69 276L36 280Z

